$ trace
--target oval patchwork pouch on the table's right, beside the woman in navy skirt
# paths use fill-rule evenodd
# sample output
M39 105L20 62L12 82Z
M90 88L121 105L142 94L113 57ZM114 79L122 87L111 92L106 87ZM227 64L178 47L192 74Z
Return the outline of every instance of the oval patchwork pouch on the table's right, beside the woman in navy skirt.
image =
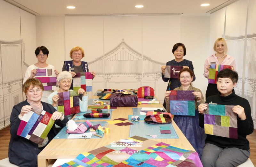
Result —
M168 114L148 115L144 118L148 124L171 124L172 118Z

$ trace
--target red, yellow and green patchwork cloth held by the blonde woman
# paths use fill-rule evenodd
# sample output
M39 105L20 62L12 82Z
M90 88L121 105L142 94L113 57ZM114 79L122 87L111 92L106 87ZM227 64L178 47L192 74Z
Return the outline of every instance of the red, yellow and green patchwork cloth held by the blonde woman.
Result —
M225 68L231 69L231 66L230 65L211 64L210 69L209 69L208 83L216 84L217 83L216 78L217 78L218 72L220 72L221 70L223 70Z

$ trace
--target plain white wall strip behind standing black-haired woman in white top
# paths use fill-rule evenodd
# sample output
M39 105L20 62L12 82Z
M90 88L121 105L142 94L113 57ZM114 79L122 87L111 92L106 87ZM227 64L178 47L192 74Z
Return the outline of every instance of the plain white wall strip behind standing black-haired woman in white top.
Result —
M49 50L47 63L53 65L58 71L62 71L67 54L64 25L64 17L36 16L36 47L45 46ZM79 26L79 24L73 26ZM35 50L36 48L31 54L31 64L37 62Z

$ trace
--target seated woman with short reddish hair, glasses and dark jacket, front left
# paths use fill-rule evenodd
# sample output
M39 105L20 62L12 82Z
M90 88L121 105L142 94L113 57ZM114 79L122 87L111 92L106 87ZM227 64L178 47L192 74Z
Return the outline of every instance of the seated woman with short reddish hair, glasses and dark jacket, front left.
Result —
M44 148L57 134L55 125L53 125L49 133L47 134L47 137L39 145L32 142L31 140L18 136L17 132L19 129L19 125L20 122L22 122L21 120L25 114L30 115L32 108L37 108L52 114L52 117L50 119L55 121L55 124L61 127L66 126L66 123L68 122L68 117L64 116L61 112L58 112L56 109L54 109L51 104L41 101L43 91L44 86L38 79L28 79L23 84L23 92L26 94L27 99L13 106L12 108L12 113L10 117L11 139L9 143L8 157L10 163L13 163L17 166L37 166L37 155L42 151L42 149L38 148ZM31 121L31 119L29 120ZM33 122L33 119L31 122ZM24 124L24 121L22 123ZM28 124L29 122L27 123L27 125ZM41 125L43 125L43 123ZM37 128L38 127L39 126L37 126ZM28 132L26 134L28 134Z

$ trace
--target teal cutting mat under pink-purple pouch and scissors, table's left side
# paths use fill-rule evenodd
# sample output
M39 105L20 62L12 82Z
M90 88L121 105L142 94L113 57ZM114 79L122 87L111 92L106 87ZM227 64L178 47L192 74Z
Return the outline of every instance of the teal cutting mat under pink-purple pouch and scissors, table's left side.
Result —
M76 122L76 123L77 123L77 124L80 124L80 123L84 123L84 121L79 121L79 122ZM105 127L106 127L107 124L108 124L106 121L93 121L93 122L91 122L91 123L92 123L92 125L100 124L101 126L105 126ZM66 131L67 131L67 126L63 127L63 128L61 129L61 131L60 131L53 139L68 139L68 135L69 135L69 134L67 134ZM89 132L90 132L90 129L88 129L88 130L86 131L86 133L89 133ZM103 134L98 134L98 133L97 133L97 135L103 137ZM100 137L94 136L94 135L92 135L92 138L100 139Z

